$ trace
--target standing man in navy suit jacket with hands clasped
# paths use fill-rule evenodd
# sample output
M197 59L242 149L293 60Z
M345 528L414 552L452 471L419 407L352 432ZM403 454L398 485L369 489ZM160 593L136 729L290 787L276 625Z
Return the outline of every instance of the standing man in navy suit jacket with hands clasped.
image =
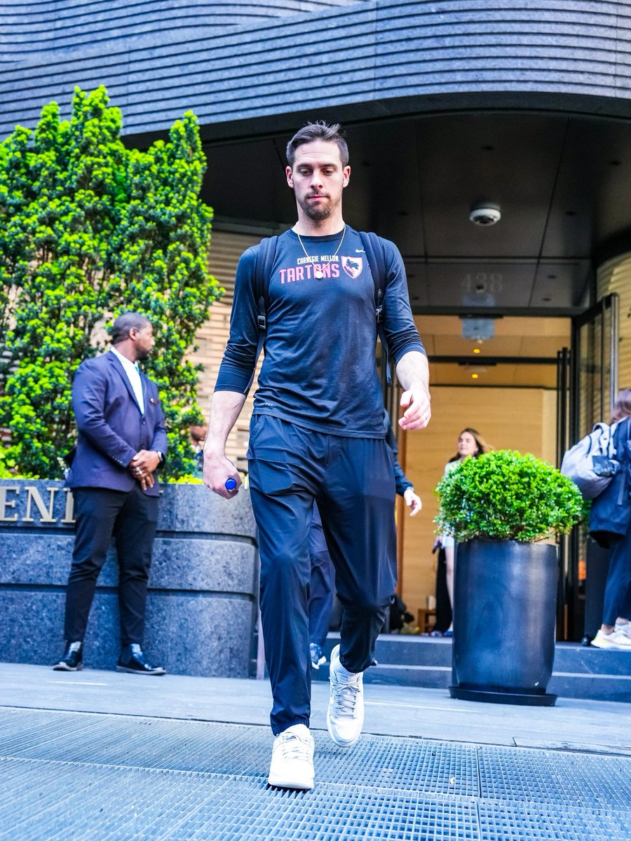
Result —
M141 373L156 341L151 322L128 312L114 321L112 347L77 368L72 407L77 451L66 484L75 499L77 531L66 591L66 651L53 666L82 668L83 637L98 574L114 535L119 561L121 653L117 669L165 674L149 664L141 643L159 489L156 468L167 431L156 383Z

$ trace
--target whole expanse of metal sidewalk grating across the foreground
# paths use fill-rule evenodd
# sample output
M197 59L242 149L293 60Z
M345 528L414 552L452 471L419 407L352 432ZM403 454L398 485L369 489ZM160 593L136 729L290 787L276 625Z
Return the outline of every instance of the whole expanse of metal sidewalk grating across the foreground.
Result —
M618 841L631 759L315 732L314 791L268 788L267 727L0 708L11 841Z

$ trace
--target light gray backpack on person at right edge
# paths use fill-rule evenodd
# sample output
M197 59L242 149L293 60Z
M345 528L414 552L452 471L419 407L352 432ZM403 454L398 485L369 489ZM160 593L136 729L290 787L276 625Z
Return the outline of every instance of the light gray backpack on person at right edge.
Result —
M620 469L613 446L618 424L597 423L589 435L571 447L561 462L561 473L578 485L584 500L595 500Z

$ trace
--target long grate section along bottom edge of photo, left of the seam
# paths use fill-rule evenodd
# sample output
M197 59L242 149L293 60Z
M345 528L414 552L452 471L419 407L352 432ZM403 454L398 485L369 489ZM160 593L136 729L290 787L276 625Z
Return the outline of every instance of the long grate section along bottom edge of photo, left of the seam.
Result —
M430 799L330 784L319 784L313 792L276 791L264 780L245 777L33 759L4 760L0 775L12 777L15 785L11 805L0 816L0 833L11 828L12 839L480 838L471 799ZM35 776L36 799L32 785L23 788ZM65 797L76 792L76 797L65 799L60 808L60 792Z

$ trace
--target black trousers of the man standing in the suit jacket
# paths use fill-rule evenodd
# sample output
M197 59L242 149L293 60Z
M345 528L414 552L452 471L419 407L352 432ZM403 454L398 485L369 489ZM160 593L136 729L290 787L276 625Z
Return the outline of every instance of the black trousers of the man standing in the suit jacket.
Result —
M120 642L141 643L145 630L146 589L156 537L156 496L130 491L75 488L77 529L66 590L64 636L83 640L98 574L114 536L119 560Z

